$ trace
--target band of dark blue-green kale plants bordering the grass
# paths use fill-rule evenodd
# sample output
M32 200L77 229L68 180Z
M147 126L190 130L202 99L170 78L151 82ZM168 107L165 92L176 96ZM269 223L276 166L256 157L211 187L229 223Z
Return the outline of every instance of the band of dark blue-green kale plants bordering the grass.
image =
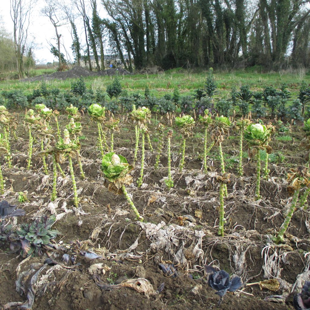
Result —
M230 93L219 92L213 70L210 69L205 86L197 89L192 95L180 95L176 88L173 93L162 97L151 95L146 87L144 95L139 92L128 92L122 89L120 77L106 89L88 89L84 79L71 82L69 91L49 87L44 81L32 93L25 94L20 90L2 91L0 104L7 108L33 108L36 104L45 104L48 108L65 110L71 104L78 109L87 109L91 104L98 103L111 113L131 112L132 106L147 107L152 112L160 113L191 113L203 114L208 109L212 114L231 116L234 111L246 115L250 111L253 117L277 117L279 119L302 120L304 115L310 116L310 87L302 82L297 95L292 95L286 84L278 89L266 86L261 91L252 91L248 85L233 87ZM108 98L108 99L107 99Z

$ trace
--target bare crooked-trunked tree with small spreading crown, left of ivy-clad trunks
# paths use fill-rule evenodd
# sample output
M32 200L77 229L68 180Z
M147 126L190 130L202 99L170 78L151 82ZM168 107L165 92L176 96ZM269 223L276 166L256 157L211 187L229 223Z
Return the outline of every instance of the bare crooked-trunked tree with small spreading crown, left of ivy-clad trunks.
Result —
M60 51L60 37L61 34L58 33L58 27L68 24L67 20L65 20L61 16L61 12L59 11L59 6L56 2L45 0L46 6L41 10L42 14L47 16L51 23L55 28L56 40L58 46L58 70L61 70L61 51Z

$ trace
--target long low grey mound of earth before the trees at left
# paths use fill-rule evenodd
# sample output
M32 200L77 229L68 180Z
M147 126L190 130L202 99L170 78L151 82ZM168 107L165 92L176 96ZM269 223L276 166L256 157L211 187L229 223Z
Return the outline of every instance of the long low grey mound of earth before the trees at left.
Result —
M50 81L50 80L66 80L68 78L80 78L81 76L86 78L86 77L90 77L90 76L104 76L104 75L115 75L116 72L118 72L119 74L123 75L123 74L131 74L129 71L125 70L125 69L107 69L104 71L90 71L86 68L83 67L73 67L72 69L68 70L68 71L63 71L63 72L54 72L54 73L50 73L50 74L42 74L42 75L38 75L36 77L33 78L26 78L23 79L23 82L34 82L34 81Z

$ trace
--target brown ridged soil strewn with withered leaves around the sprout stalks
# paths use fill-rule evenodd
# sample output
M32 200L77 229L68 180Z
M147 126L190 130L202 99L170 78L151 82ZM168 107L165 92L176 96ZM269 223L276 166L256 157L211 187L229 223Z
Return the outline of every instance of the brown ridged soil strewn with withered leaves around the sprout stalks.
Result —
M58 175L58 198L53 203L50 201L51 158L49 175L44 174L38 156L33 157L32 169L26 169L29 141L22 125L24 114L15 115L19 122L18 139L11 140L13 168L2 167L6 190L1 198L26 211L26 215L11 219L15 221L13 224L16 220L17 224L30 223L43 214L54 214L57 221L53 228L61 234L42 256L25 259L11 253L9 245L0 248L0 307L6 305L4 309L9 309L12 304L7 303L15 302L11 309L30 308L29 305L33 310L212 309L219 296L208 286L203 266L215 265L230 275L240 276L244 283L237 292L224 296L219 309L293 309L293 294L301 290L310 274L309 208L294 212L285 244L274 244L272 237L279 231L292 199L286 192L286 175L290 168L308 160L301 123L286 134L292 137L291 141L277 139L282 135L279 133L270 142L273 153L281 154L281 158L270 162L270 177L261 180L263 198L258 201L255 200L256 162L245 156L245 174L237 177L238 137L232 132L224 140L226 170L232 175L227 185L228 197L224 198L225 234L219 237L219 183L215 180L220 172L219 156L215 147L209 154L209 171L203 173L200 126L187 139L182 173L178 170L181 139L176 133L172 138L174 187L169 191L164 182L166 143L159 169L154 170L158 143L155 123L161 116L152 118L149 131L154 152L146 144L143 185L136 187L141 158L138 151L138 162L131 172L134 183L127 187L144 217L143 222L138 222L125 197L115 196L104 186L97 126L88 116L82 117L80 138L86 178L80 179L76 163L80 201L79 208L74 208L66 163L61 165L66 177ZM60 116L59 120L64 129L67 116ZM166 123L166 119L162 122ZM120 124L120 134L114 134L114 152L132 163L134 125L127 121L126 115L121 116ZM34 155L39 148L34 144ZM28 201L18 202L20 191L27 191ZM175 272L166 274L161 263L173 263ZM277 291L260 290L258 285L246 286L268 278L279 281Z

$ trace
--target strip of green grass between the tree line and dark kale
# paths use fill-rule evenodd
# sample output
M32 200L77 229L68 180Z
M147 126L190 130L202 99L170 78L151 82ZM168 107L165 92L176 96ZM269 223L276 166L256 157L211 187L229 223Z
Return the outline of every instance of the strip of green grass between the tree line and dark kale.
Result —
M40 74L50 71L41 69ZM121 84L128 91L139 91L143 93L146 86L150 88L151 95L162 96L166 93L171 93L175 88L178 88L181 94L193 94L195 89L202 88L206 80L207 71L193 72L184 69L173 69L159 74L135 74L124 75L121 78ZM296 73L257 73L246 71L232 71L230 73L216 72L215 77L218 84L220 97L228 96L229 91L233 86L239 88L241 85L249 85L253 91L260 90L265 86L274 86L279 88L282 83L288 85L288 89L296 95L302 81L310 83L310 74L304 72ZM103 88L111 83L113 77L89 77L85 79L86 86L93 89ZM61 90L69 90L71 85L70 79L61 81L48 81L50 87L58 87ZM20 82L6 81L0 83L0 90L19 89L26 93L32 92L37 88L40 82Z

